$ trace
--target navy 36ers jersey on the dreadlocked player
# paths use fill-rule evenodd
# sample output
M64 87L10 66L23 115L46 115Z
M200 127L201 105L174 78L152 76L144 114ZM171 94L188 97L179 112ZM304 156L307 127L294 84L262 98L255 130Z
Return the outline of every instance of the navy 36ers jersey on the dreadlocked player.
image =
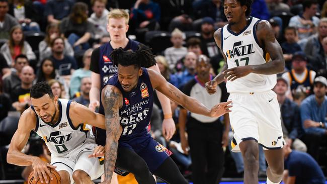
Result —
M129 92L123 90L116 73L107 84L116 86L123 95L123 107L119 109L119 121L123 133L119 140L148 134L146 127L150 123L153 107L153 88L146 68L138 78L136 88Z

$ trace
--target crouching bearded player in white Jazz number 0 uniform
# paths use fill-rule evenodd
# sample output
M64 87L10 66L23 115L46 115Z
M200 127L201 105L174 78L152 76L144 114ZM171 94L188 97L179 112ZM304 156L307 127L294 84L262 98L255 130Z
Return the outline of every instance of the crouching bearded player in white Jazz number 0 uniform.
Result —
M30 95L32 106L20 117L7 154L8 163L32 165L34 177L39 177L42 183L49 182L48 168L59 172L62 183L93 183L92 179L104 173L97 158L104 155L104 148L95 143L89 126L105 129L104 116L74 101L58 99L46 82L33 85ZM49 148L50 164L21 152L32 130Z

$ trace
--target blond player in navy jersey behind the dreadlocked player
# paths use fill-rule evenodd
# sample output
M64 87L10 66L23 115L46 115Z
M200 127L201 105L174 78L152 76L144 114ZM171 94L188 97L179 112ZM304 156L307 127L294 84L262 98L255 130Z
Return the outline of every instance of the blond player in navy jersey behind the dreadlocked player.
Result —
M130 40L126 37L126 32L128 31L128 21L129 15L125 10L114 9L111 10L108 14L108 25L107 31L109 32L111 41L104 44L100 48L97 48L93 51L91 57L91 66L90 70L92 71L92 87L90 90L90 106L89 108L95 110L96 107L99 107L99 113L104 114L104 109L101 104L100 92L103 88L103 85L109 80L109 78L117 73L117 66L113 65L110 57L110 53L119 47L122 47L124 50L133 50L136 51L138 46L146 48L145 45ZM151 68L159 72L157 65L149 64L142 65L145 68ZM175 133L175 123L172 119L172 111L170 106L170 101L167 97L163 96L161 93L157 93L158 99L161 103L162 111L164 114L164 119L162 122L162 133L166 139L171 139ZM100 103L99 103L100 102ZM97 143L104 145L105 143L105 131L97 129ZM100 134L100 136L99 136Z

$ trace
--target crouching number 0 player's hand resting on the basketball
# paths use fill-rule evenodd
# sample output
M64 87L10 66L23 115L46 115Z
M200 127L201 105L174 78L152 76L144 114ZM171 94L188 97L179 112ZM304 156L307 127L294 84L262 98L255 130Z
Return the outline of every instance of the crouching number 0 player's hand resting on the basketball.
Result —
M40 178L41 183L49 183L47 174L50 176L50 179L53 180L49 168L54 169L56 166L50 165L39 157L35 157L33 159L32 167L34 170L34 178Z

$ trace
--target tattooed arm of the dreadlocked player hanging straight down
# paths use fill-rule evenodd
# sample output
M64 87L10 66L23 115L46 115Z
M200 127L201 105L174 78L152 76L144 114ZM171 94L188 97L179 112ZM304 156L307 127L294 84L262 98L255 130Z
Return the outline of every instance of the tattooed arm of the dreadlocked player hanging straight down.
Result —
M119 109L123 103L120 90L107 85L102 90L102 103L105 109L106 146L105 146L105 183L110 183L117 158L118 140L122 129L119 124Z

